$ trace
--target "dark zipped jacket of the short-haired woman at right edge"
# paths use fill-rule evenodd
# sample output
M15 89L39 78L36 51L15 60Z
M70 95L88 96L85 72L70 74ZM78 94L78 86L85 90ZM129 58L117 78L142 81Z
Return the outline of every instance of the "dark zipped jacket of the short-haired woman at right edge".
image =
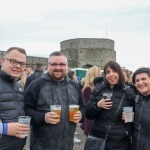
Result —
M150 150L150 95L136 95L133 150Z

